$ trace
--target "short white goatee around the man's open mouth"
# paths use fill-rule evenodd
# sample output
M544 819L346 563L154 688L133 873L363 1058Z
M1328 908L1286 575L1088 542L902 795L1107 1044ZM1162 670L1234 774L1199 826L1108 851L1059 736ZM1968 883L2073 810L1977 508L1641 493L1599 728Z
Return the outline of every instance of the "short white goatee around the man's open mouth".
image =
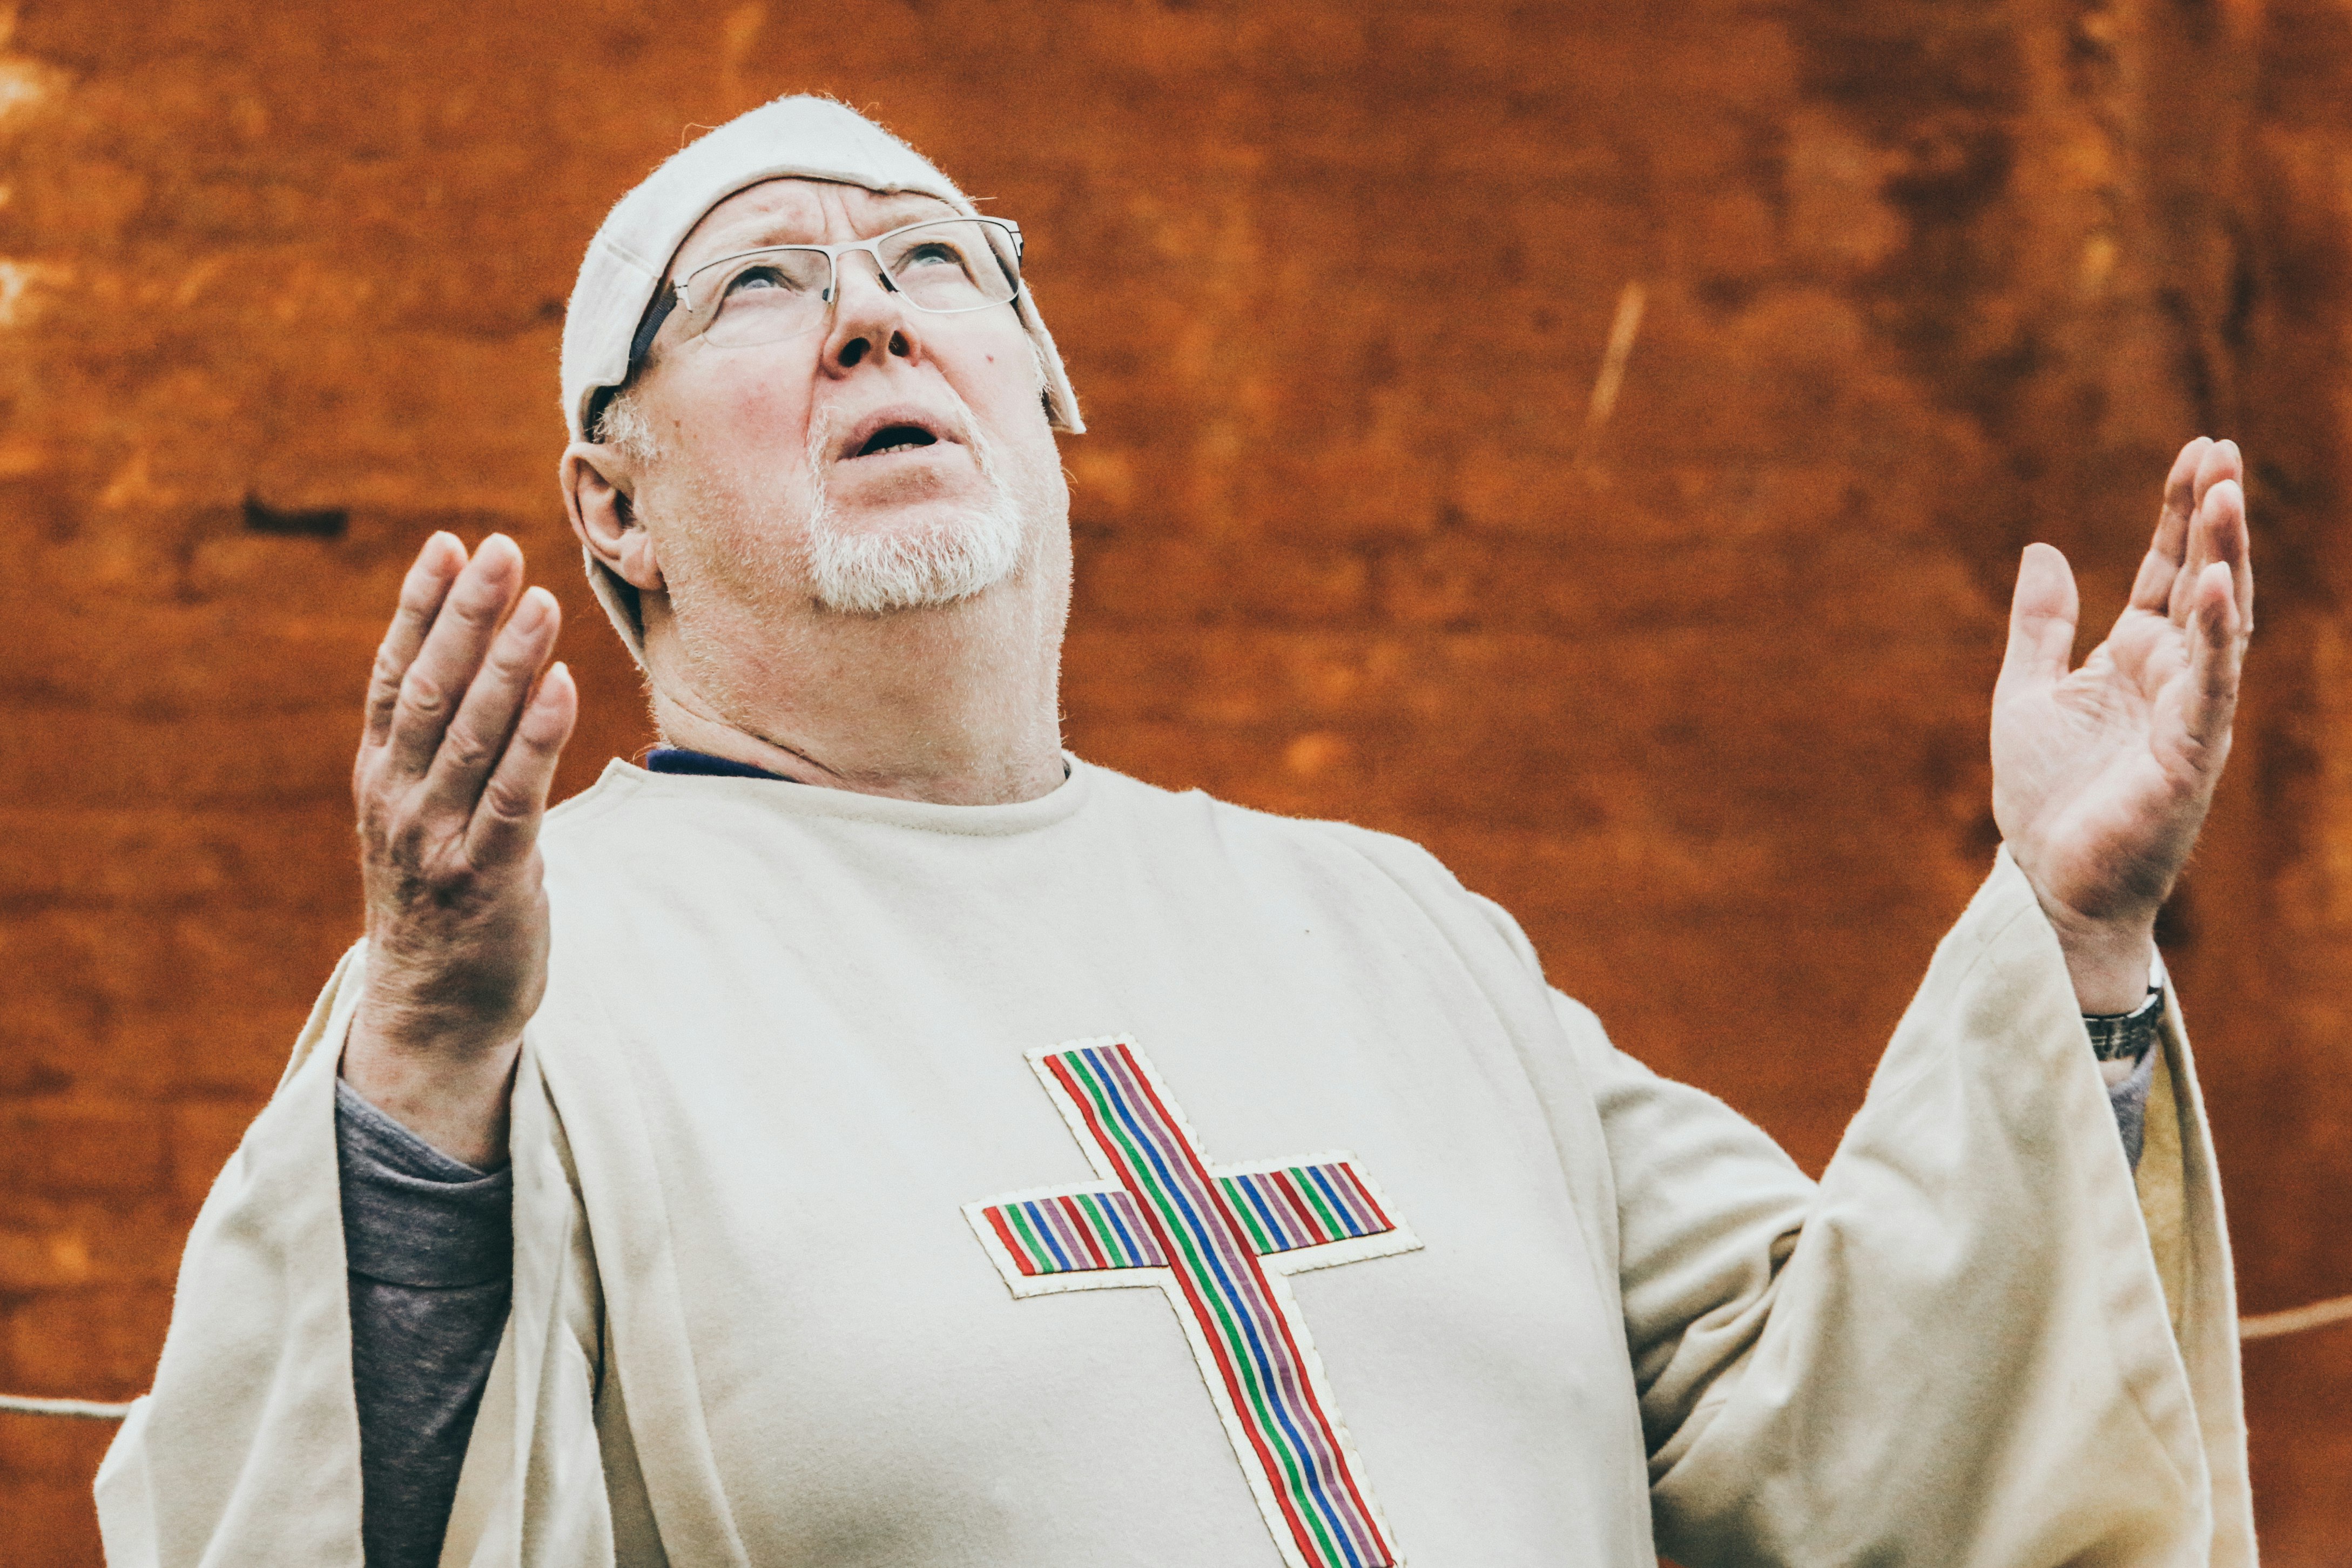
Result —
M920 534L854 534L842 529L833 496L823 487L826 430L811 430L809 473L816 475L816 505L809 510L802 564L818 604L842 616L955 604L995 588L1021 567L1025 536L1021 503L1004 482L1004 468L988 437L971 421L964 423L962 437L988 487L983 501L941 517Z

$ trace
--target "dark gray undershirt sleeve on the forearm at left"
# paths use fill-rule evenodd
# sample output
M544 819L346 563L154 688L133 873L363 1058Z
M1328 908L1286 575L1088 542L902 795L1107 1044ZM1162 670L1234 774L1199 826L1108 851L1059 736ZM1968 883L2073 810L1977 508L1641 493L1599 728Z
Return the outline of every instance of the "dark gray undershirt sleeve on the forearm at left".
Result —
M435 1568L515 1279L513 1171L449 1159L334 1084L367 1568Z

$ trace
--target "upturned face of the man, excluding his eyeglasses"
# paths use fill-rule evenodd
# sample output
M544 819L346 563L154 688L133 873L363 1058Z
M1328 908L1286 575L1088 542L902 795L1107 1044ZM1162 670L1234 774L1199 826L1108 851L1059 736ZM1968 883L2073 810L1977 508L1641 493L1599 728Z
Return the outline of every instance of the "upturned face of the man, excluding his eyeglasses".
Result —
M670 277L934 216L955 214L922 195L764 181L703 216ZM689 656L731 621L701 609L953 602L1016 574L1061 524L1037 357L1009 303L929 315L851 254L833 313L800 336L724 348L691 327L684 310L663 322L630 397L656 454L635 510Z

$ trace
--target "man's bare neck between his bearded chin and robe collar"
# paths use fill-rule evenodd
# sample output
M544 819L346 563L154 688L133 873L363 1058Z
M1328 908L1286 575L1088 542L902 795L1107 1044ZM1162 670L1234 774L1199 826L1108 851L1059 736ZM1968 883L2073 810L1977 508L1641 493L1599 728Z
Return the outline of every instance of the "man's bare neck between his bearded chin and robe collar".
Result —
M1047 552L1061 555L1061 552ZM722 637L682 637L644 595L654 724L668 745L797 783L955 806L1037 799L1063 780L1065 555L938 609L786 625L743 614Z

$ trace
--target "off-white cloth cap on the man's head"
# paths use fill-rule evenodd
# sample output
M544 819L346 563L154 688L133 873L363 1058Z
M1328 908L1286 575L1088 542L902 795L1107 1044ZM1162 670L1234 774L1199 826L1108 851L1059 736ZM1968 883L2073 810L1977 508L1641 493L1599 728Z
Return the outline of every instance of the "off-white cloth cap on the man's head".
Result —
M670 256L706 212L764 179L830 179L868 190L915 190L976 214L955 181L934 169L922 153L833 99L776 99L689 141L614 202L604 226L588 242L588 256L581 259L581 275L564 308L562 383L564 425L572 440L586 437L595 395L628 381L630 341L670 268ZM1014 310L1044 367L1047 423L1070 435L1082 433L1087 425L1077 416L1077 393L1070 390L1054 334L1044 329L1025 282L1014 296ZM614 581L595 557L588 557L588 581L621 642L642 665L644 639L637 628L635 590Z

